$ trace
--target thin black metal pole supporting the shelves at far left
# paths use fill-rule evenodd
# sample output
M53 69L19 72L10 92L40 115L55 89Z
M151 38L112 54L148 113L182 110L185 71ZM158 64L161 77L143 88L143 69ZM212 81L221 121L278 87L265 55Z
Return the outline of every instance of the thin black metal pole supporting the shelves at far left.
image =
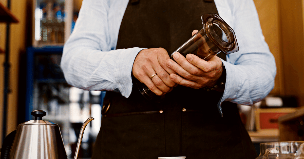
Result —
M7 8L11 9L11 1L7 0ZM2 142L6 137L6 117L7 117L7 99L9 93L9 36L10 36L10 22L6 24L6 37L5 37L5 62L4 62L4 95L3 95L3 130L2 130Z

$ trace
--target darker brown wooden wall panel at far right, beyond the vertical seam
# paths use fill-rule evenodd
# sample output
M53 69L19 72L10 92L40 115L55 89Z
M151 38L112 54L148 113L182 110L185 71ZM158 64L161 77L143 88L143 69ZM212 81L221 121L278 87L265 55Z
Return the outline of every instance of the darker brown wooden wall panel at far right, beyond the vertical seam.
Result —
M285 95L304 105L304 28L302 0L279 0Z

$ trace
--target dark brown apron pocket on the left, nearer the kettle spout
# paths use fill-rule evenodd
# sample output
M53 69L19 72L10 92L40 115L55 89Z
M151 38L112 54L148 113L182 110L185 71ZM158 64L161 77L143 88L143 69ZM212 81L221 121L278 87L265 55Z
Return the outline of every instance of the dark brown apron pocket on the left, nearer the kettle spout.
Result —
M160 112L103 117L96 139L103 158L157 158L165 154L164 116ZM99 149L99 148L98 148Z

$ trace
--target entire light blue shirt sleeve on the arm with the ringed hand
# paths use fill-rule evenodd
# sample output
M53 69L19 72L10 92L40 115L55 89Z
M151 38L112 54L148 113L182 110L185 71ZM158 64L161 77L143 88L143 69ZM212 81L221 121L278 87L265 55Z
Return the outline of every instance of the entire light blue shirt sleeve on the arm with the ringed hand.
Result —
M127 1L84 0L64 45L61 68L67 83L85 90L118 90L129 97L133 62L143 48L116 48ZM115 6L119 12L111 12ZM111 21L111 22L109 22Z

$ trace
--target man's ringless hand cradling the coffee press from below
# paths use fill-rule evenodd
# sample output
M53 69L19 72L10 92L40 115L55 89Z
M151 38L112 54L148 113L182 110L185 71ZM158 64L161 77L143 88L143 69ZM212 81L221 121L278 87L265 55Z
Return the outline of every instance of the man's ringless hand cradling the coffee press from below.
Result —
M194 30L194 35L198 30ZM170 74L170 79L179 85L190 88L212 87L222 75L222 61L214 56L209 61L205 61L194 54L188 54L183 57L180 53L173 54L174 62L167 60L167 66L177 74Z

